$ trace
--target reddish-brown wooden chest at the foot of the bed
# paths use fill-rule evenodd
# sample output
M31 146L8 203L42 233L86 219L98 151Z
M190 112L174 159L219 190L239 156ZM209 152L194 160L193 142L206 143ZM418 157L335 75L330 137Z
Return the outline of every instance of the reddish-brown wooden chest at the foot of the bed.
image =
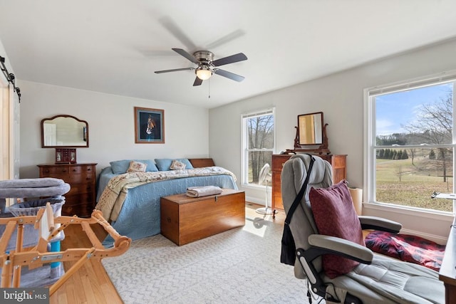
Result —
M192 198L175 194L160 199L161 234L178 246L245 225L245 192Z

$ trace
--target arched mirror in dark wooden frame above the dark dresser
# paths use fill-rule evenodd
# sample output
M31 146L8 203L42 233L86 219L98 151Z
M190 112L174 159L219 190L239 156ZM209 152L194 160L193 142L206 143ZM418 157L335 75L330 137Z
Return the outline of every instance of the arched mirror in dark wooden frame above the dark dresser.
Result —
M41 120L41 147L88 147L88 123L71 115Z

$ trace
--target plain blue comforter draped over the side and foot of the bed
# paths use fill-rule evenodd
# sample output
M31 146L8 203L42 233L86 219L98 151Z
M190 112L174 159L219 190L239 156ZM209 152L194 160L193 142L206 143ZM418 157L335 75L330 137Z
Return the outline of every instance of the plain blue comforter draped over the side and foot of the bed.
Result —
M106 167L100 173L97 201L109 180L115 176L116 174L113 174L110 167ZM160 198L185 193L188 187L209 185L237 189L237 184L232 176L226 174L169 179L143 184L128 190L118 218L111 225L120 235L128 236L133 240L160 234ZM113 239L108 236L103 245L113 246Z

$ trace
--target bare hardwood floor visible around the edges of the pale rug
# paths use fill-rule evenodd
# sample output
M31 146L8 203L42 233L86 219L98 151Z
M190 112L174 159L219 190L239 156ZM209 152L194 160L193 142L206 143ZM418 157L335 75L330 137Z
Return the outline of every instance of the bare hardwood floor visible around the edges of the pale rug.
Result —
M246 202L246 216L258 216L256 209L262 206ZM276 219L271 215L264 217L266 221L275 221L284 223L284 211L276 214ZM105 234L102 229L93 226L99 239L103 239ZM80 225L71 225L65 229L65 239L61 242L61 250L66 248L85 247L90 248L91 243L86 234L82 231ZM64 268L68 269L75 262L63 263ZM60 288L51 296L51 304L79 304L79 303L97 303L97 304L116 304L123 303L118 295L113 283L110 281L108 274L99 261L90 260L85 263L76 273L71 276Z

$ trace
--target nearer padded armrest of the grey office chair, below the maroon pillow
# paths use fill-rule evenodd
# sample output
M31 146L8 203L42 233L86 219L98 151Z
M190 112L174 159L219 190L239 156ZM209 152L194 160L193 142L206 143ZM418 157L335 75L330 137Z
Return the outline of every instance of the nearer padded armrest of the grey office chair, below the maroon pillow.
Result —
M370 264L372 262L373 253L370 249L358 243L347 241L346 239L324 236L322 234L311 234L308 241L311 246L319 248L319 256L331 253L364 264Z

